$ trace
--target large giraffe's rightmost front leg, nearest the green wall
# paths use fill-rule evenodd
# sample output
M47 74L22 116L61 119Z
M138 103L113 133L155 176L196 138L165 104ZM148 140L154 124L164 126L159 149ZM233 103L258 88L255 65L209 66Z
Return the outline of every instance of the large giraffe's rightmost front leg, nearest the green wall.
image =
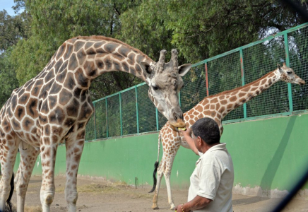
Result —
M66 187L65 198L68 205L68 211L76 211L77 192L77 174L78 167L85 143L85 129L76 129L66 139Z

